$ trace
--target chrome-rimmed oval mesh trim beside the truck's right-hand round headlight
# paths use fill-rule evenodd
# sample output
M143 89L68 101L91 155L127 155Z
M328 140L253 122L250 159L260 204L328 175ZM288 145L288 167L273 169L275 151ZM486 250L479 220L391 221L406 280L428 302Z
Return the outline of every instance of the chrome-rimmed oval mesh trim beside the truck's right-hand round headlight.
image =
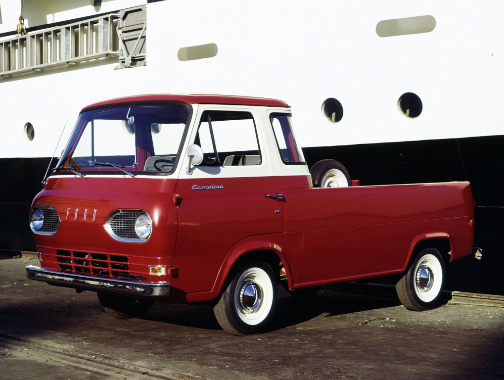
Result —
M135 232L135 221L140 214L147 214L144 210L117 210L109 215L105 222L105 230L118 241L144 243L147 239L140 239ZM152 218L151 218L152 219Z

